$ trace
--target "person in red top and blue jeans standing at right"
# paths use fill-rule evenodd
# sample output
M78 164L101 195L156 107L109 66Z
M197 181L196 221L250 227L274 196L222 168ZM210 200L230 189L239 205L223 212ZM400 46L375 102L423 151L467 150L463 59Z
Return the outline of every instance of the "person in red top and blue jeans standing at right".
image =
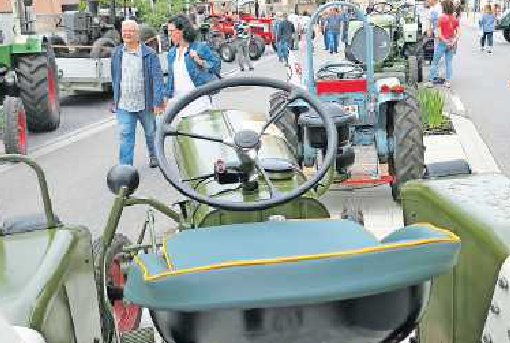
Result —
M443 0L443 14L438 18L438 42L434 50L434 59L429 71L429 82L427 86L431 86L432 82L438 75L438 65L441 58L445 58L446 75L445 87L450 87L450 79L452 77L453 51L459 37L459 21L453 15L453 2L451 0Z

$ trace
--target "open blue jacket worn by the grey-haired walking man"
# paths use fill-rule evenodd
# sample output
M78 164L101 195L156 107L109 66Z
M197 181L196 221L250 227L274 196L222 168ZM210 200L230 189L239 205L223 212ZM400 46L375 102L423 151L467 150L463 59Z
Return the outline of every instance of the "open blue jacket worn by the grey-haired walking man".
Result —
M120 83L122 81L122 55L124 53L124 45L121 44L115 48L112 54L112 86L113 99L115 108L119 104L120 99ZM142 44L142 60L143 60L143 76L145 83L145 110L152 112L156 105L163 102L165 96L165 83L163 81L163 72L156 52Z

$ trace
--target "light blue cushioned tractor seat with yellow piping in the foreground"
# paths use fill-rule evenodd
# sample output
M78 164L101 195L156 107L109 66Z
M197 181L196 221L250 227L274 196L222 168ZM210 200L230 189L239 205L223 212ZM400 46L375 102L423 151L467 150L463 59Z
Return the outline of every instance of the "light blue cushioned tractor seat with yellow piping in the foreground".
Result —
M452 233L411 225L377 240L349 220L267 221L179 232L135 257L125 297L170 311L271 308L390 292L448 272Z

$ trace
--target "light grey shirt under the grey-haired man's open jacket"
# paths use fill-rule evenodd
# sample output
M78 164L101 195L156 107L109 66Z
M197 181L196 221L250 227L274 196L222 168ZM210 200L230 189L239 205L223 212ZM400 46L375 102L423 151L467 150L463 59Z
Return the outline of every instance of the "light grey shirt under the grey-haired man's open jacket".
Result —
M145 85L141 46L136 52L129 52L124 46L122 56L122 79L118 107L127 112L145 109Z

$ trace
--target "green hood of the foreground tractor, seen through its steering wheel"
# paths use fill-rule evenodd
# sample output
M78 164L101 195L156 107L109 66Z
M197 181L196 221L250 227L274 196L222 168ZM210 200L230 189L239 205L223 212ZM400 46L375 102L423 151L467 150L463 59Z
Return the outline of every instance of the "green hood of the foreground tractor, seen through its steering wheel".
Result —
M216 110L184 117L179 122L178 129L183 132L231 139L235 132L241 130L250 129L260 132L265 121L265 114L252 114L239 110ZM222 143L183 136L174 139L173 143L175 158L183 179L211 174L218 160L224 161L227 165L239 163L234 149ZM258 157L279 191L286 192L294 189L305 179L300 170L294 167L288 168L288 166L298 165L296 156L292 153L282 132L274 125L270 126L262 137ZM260 177L259 188L249 194L243 193L239 184L220 185L212 179L204 182L192 181L192 185L201 194L214 195L233 202L256 201L259 198L269 197L267 186ZM286 218L301 219L329 217L327 209L316 199L315 191L309 191L302 197L261 211L227 211L204 204L198 207L188 205L193 208L189 208L190 213L193 213L193 222L199 227L256 222L276 214Z

